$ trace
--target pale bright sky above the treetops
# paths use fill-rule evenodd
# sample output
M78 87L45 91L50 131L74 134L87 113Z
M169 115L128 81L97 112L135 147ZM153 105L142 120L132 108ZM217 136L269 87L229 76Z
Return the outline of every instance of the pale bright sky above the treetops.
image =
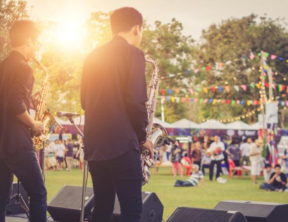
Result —
M39 20L73 20L84 23L91 12L109 12L124 6L134 7L150 24L176 18L183 24L183 33L199 39L203 29L230 17L240 18L251 13L273 19L288 17L287 0L27 0L29 14ZM288 18L285 19L288 23Z

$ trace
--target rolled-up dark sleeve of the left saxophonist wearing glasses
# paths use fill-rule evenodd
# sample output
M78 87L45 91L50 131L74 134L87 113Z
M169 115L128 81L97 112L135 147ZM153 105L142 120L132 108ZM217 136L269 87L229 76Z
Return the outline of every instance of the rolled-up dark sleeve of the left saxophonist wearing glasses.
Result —
M8 95L8 110L13 115L23 114L29 107L25 101L30 101L30 86L33 81L32 69L28 66L23 66L16 73L11 90Z

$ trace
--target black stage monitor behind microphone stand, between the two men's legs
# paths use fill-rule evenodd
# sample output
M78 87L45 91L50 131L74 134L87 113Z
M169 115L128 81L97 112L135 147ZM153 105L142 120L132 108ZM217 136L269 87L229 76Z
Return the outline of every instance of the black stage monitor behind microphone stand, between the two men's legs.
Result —
M64 185L47 205L54 220L79 222L81 215L82 187ZM86 188L84 218L88 217L94 206L93 188Z

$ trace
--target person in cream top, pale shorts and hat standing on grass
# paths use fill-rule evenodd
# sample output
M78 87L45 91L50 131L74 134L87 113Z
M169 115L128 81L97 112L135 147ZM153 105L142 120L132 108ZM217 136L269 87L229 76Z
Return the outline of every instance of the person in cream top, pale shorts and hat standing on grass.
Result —
M261 157L263 151L263 140L261 138L255 140L255 143L249 150L250 162L251 162L251 179L252 184L257 183L257 176L261 173Z

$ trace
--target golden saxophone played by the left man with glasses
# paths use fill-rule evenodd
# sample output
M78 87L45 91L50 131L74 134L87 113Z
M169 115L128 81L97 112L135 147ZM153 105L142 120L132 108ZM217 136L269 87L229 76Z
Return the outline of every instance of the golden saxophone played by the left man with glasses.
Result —
M49 133L49 126L55 125L56 120L55 120L55 117L51 113L49 113L48 110L45 108L48 89L49 89L49 85L50 85L49 71L45 67L43 67L42 64L40 64L39 61L35 57L33 57L32 60L45 73L44 81L40 87L40 93L39 93L39 98L38 98L39 102L37 104L37 108L35 110L35 117L34 117L35 121L41 121L42 122L42 125L44 127L44 132L40 136L33 135L33 137L32 137L34 150L36 152L38 152L40 149L43 148L43 142L45 142L47 135Z

